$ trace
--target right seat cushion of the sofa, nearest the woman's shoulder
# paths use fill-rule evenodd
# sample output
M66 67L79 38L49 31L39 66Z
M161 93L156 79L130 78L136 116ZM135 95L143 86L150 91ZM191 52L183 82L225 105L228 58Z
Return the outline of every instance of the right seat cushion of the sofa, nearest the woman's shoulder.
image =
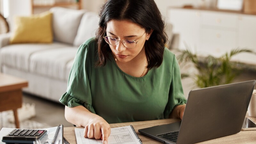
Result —
M61 47L36 52L30 56L29 71L34 74L67 80L66 65L75 58L78 47Z

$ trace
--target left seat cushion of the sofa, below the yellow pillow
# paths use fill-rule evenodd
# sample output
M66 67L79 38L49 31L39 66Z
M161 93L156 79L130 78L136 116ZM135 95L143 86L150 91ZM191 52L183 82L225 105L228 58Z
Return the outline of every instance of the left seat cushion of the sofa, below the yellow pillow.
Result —
M28 71L32 54L66 46L67 44L56 42L52 44L11 44L0 49L0 61L2 65Z

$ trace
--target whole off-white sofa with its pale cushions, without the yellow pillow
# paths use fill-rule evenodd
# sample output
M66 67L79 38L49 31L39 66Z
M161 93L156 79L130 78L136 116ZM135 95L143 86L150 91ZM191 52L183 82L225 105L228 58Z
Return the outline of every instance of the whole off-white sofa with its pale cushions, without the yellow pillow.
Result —
M61 7L50 9L52 44L9 44L11 33L0 35L0 71L28 80L24 92L59 102L66 92L69 71L76 51L95 36L98 14Z

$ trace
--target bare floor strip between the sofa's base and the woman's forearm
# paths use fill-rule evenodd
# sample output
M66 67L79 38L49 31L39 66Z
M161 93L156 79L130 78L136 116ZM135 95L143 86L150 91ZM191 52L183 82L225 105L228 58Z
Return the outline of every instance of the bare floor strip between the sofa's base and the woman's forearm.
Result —
M60 103L44 100L28 93L23 93L23 102L29 104L36 104L36 117L33 117L30 120L34 120L39 123L45 123L52 127L59 124L63 124L64 127L73 126L73 124L70 124L65 119L65 106Z

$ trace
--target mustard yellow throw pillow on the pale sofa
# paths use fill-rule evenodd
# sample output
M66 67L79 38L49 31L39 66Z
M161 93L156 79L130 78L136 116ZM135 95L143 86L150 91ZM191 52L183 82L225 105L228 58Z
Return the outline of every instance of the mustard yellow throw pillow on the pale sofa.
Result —
M10 43L52 43L52 13L17 16Z

